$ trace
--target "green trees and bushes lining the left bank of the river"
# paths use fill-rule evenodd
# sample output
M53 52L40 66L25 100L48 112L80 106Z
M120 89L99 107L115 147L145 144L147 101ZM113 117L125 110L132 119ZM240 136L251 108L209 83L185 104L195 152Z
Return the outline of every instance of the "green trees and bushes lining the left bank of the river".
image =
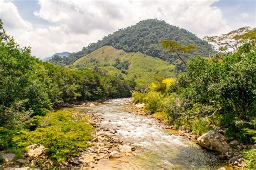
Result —
M71 113L48 113L78 100L129 97L135 84L93 69L68 69L31 56L6 35L0 20L0 150L21 157L24 147L42 144L63 161L88 147L92 126ZM96 61L94 61L96 62Z

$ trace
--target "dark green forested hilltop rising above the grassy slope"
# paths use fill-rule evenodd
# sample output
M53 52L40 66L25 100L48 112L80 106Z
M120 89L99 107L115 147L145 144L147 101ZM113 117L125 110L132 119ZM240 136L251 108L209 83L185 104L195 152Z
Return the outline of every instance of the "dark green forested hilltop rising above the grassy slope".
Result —
M111 45L116 49L122 49L126 52L139 51L146 55L158 57L170 63L179 65L180 61L177 60L176 55L167 53L158 45L160 40L167 39L176 40L182 45L197 45L197 50L190 56L185 56L187 59L197 55L208 56L209 52L213 51L210 44L185 29L180 29L177 26L167 24L165 21L159 21L158 19L146 19L140 21L136 25L129 26L125 29L119 29L111 35L104 37L102 40L98 40L97 43L92 43L87 47L83 47L82 51L71 53L68 57L62 59L59 58L57 62L55 60L55 64L71 64L78 58L81 58L102 46Z

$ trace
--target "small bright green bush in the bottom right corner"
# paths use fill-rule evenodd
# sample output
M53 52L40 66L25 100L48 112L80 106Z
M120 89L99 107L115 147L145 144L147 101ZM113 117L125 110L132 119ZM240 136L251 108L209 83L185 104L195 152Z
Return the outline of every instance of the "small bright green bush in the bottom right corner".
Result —
M256 169L256 149L244 151L242 152L242 155L244 156L242 160L244 160L246 168Z

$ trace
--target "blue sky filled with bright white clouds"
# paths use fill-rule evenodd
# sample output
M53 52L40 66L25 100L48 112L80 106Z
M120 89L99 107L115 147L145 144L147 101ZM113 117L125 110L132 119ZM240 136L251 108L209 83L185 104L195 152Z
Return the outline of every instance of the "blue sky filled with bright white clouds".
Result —
M38 58L78 52L121 28L158 18L198 37L256 27L254 0L0 0L8 35Z

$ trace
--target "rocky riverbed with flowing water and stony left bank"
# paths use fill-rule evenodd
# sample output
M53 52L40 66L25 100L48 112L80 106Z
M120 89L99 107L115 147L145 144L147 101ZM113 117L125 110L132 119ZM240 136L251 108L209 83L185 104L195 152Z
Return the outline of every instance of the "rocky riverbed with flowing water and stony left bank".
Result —
M173 131L161 120L146 117L143 104L134 106L131 99L85 103L72 109L76 111L75 117L91 117L89 123L95 127L91 134L91 147L58 164L46 157L43 147L30 148L31 153L28 152L23 159L15 162L10 159L11 166L7 169L26 169L37 165L45 169L54 166L78 169L218 169L226 166L222 157L239 157L235 161L240 164L241 157L236 151L227 151L227 156L225 153L219 156L217 152L208 152L194 142L197 136L183 130Z

